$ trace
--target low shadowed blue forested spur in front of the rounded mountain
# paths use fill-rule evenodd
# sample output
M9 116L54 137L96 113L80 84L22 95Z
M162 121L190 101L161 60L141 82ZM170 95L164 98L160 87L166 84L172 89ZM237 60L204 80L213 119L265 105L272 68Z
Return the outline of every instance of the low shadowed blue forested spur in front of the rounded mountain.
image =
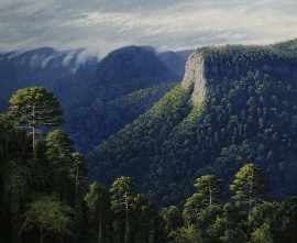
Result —
M148 88L132 85L131 92L112 99L100 98L96 89L97 99L91 106L74 107L68 111L67 131L70 132L77 146L88 152L152 108L175 85L173 81L158 85L152 85L150 81Z

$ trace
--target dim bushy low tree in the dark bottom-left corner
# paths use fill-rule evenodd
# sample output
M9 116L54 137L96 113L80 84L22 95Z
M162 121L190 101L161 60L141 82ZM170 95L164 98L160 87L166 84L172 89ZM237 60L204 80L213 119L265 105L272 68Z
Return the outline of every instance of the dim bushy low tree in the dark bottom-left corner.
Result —
M43 196L29 203L29 209L24 213L24 223L19 233L37 229L40 243L44 242L47 233L58 236L69 235L72 213L72 208L54 196Z

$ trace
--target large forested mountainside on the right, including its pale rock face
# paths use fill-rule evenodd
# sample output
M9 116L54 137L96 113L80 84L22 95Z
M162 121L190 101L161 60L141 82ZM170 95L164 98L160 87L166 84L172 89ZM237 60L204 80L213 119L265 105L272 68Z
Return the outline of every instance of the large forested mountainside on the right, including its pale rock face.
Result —
M132 176L168 205L190 195L199 175L228 185L253 162L271 196L296 195L296 41L197 49L182 85L89 155L91 179Z

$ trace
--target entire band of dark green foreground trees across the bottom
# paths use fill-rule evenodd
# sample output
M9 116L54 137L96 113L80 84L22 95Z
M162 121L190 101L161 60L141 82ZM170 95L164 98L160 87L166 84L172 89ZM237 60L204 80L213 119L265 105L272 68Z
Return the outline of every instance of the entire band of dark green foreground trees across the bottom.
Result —
M180 102L172 106L186 111L187 95L173 92ZM58 100L41 87L18 90L1 113L1 242L296 242L297 198L270 198L258 166L242 162L228 188L216 175L202 175L185 201L162 208L139 194L131 177L110 186L89 181L62 122Z

